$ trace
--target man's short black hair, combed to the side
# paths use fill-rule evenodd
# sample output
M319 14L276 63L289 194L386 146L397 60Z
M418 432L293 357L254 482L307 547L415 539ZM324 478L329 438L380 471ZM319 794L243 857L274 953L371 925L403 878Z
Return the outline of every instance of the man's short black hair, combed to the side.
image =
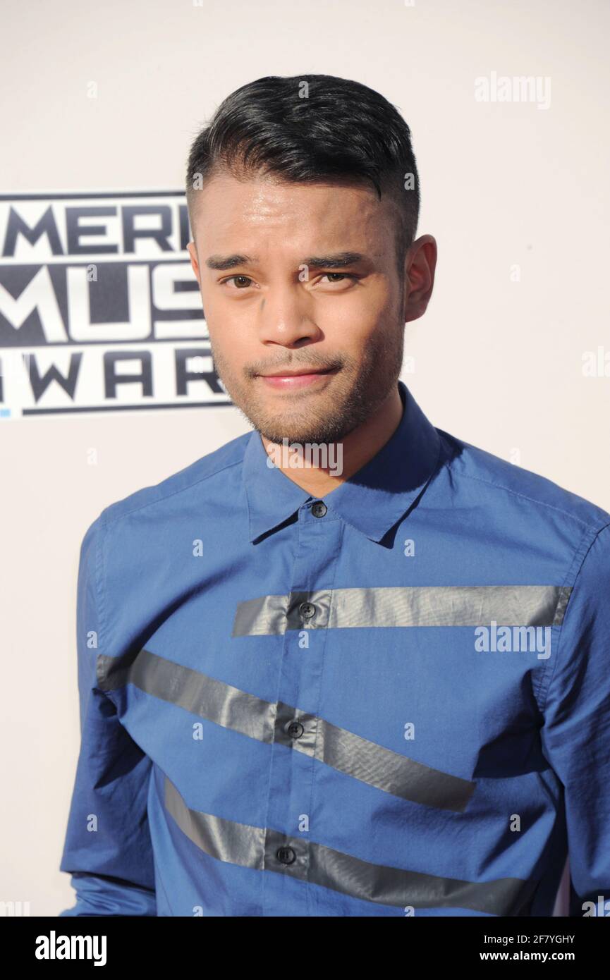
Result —
M306 83L304 85L304 83ZM268 75L235 89L195 137L186 169L191 226L196 181L216 172L287 181L370 180L396 201L399 269L415 239L420 186L411 131L373 88L331 74ZM411 187L405 183L411 174Z

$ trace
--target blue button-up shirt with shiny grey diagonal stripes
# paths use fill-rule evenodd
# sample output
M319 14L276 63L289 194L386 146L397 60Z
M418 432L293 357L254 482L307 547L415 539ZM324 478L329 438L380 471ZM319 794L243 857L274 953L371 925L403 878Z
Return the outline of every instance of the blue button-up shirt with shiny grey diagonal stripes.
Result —
M610 898L610 514L398 384L322 499L252 430L86 531L62 915Z

